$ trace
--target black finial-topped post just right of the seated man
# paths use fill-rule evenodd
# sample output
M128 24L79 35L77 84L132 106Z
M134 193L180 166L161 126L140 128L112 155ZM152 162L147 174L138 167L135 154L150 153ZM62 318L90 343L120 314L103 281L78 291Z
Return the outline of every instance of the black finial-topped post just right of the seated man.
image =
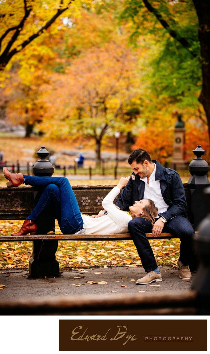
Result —
M202 149L201 145L198 145L198 147L193 150L193 153L196 155L196 158L189 164L188 169L191 177L187 183L191 194L190 221L194 230L196 230L199 222L210 212L208 198L203 193L204 188L209 184L207 177L209 165L201 157L205 153L205 150Z

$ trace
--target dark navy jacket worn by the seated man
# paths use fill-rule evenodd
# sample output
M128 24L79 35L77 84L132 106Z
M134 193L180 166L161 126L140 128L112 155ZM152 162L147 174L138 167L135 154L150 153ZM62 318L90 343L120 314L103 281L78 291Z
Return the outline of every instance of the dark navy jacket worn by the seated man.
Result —
M177 215L187 217L185 190L179 173L172 169L166 169L156 160L152 162L156 164L155 180L160 181L161 194L165 203L168 204L167 211L159 216L163 216L166 221ZM145 182L141 181L139 175L135 175L134 172L132 176L116 202L121 210L129 210L128 207L133 205L135 200L144 199Z

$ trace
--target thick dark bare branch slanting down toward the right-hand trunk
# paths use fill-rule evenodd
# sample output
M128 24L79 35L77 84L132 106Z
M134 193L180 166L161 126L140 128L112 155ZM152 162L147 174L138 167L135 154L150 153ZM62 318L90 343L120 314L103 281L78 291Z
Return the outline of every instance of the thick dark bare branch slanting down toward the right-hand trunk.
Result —
M167 21L162 17L161 13L158 12L156 8L154 8L147 0L142 0L147 10L154 14L157 20L162 24L163 28L165 28L171 37L173 37L177 42L179 42L182 47L186 48L188 52L195 58L197 55L190 50L190 43L186 40L186 38L181 37L175 30L170 28L170 25Z

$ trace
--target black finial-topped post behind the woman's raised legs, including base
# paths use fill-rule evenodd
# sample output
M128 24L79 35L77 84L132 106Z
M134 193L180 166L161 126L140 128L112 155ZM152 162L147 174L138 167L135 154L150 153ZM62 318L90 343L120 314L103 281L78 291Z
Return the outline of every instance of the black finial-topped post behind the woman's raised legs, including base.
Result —
M46 160L49 151L42 146L37 155L40 160L33 166L34 176L52 176L54 168L52 164ZM34 205L40 199L43 189L33 188ZM37 221L37 234L46 235L55 232L55 219L53 207L43 214ZM58 249L58 240L36 240L33 241L33 254L29 259L29 274L31 278L39 278L42 276L59 276L59 263L56 261L56 251Z

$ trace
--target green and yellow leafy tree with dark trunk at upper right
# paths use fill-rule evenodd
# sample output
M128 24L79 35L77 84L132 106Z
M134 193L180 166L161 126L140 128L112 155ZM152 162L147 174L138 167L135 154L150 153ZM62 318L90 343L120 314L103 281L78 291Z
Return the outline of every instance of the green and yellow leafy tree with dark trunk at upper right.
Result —
M134 30L131 39L133 41L142 32L145 32L145 28L148 32L161 35L165 31L167 35L167 40L164 39L165 47L162 48L160 56L156 60L156 65L158 66L159 61L161 69L156 75L157 84L160 83L157 90L159 89L159 92L162 90L163 94L170 95L177 102L190 104L192 102L185 99L190 96L189 91L196 95L202 84L199 102L203 105L206 113L210 136L209 1L126 0L121 18L132 19ZM173 39L172 43L170 38ZM199 79L200 72L202 73L202 83ZM172 78L171 85L168 77ZM195 100L192 101L194 104Z

